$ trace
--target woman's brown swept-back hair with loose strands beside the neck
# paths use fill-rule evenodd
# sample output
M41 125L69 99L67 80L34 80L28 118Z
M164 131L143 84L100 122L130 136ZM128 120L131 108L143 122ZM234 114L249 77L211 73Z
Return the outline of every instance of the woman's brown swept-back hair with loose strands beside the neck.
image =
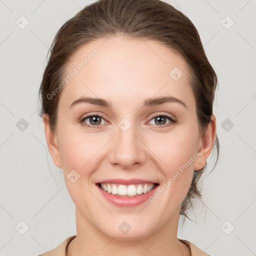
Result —
M177 51L187 62L190 72L189 85L195 102L200 134L213 114L213 102L217 87L217 76L209 63L199 34L193 23L183 13L161 0L98 0L85 6L68 19L58 30L39 88L41 109L46 113L52 131L57 121L57 108L61 89L51 99L47 95L61 83L69 59L78 47L102 37L122 34L138 39L153 39ZM47 55L48 56L48 55ZM216 165L219 142L216 136ZM193 173L188 193L181 204L180 215L187 218L193 199L201 198L198 180L203 168ZM190 218L189 218L190 219Z

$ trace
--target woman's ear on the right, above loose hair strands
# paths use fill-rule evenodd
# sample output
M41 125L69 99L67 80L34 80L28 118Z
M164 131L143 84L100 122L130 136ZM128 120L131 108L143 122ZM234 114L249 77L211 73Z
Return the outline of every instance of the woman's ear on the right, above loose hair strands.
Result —
M200 155L194 161L194 170L199 170L204 167L206 159L210 155L214 141L216 138L216 118L212 114L207 128L204 131L203 136L200 139L200 148L197 150Z

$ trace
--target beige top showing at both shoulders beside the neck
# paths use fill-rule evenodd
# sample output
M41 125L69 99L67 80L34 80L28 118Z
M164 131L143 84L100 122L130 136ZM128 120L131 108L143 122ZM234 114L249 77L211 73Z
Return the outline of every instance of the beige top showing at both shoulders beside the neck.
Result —
M75 238L76 235L72 235L69 236L68 238L66 238L63 242L61 242L56 248L48 251L48 252L44 252L38 256L66 256L66 247L68 245L68 243ZM187 241L187 240L183 240L183 239L178 239L179 241L183 242L184 244L186 244L190 251L191 251L191 256L210 256L209 254L203 252L201 249L199 249L195 244Z

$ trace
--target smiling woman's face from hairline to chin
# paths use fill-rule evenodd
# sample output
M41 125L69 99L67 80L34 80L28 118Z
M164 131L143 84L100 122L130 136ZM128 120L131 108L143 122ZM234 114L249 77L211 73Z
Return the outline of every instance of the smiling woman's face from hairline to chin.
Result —
M204 164L184 59L153 40L111 36L80 47L65 75L49 148L79 226L133 239L177 223Z

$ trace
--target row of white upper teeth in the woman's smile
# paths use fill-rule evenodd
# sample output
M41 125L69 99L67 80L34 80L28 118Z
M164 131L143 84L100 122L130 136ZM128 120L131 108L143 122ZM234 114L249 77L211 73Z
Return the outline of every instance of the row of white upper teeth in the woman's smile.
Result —
M123 185L123 184L112 184L112 183L100 183L100 187L111 194L116 195L136 195L147 193L154 188L154 184L132 184L132 185Z

